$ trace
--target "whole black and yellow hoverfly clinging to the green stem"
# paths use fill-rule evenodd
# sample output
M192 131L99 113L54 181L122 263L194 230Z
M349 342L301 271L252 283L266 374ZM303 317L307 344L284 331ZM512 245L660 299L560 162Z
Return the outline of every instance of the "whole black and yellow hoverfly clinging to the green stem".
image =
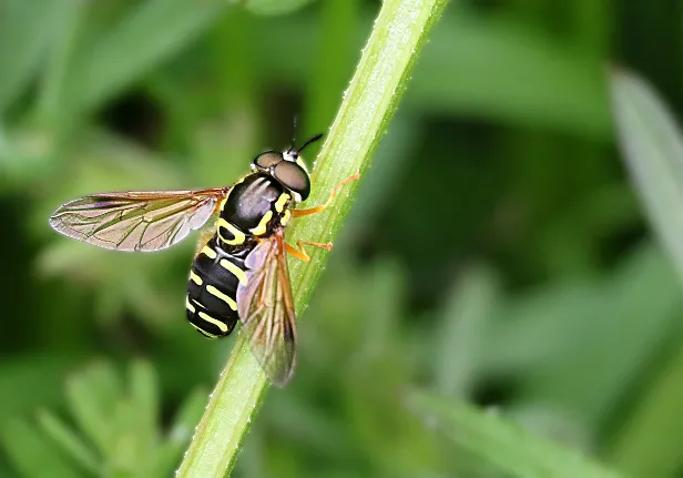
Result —
M114 192L72 200L54 211L50 225L61 234L115 251L160 251L217 214L200 240L190 272L187 321L207 338L230 335L237 321L263 370L277 386L296 367L296 322L286 253L308 262L304 245L332 243L284 240L294 217L324 211L354 174L337 184L325 204L296 210L310 193L300 148L258 154L251 172L232 186L188 191Z

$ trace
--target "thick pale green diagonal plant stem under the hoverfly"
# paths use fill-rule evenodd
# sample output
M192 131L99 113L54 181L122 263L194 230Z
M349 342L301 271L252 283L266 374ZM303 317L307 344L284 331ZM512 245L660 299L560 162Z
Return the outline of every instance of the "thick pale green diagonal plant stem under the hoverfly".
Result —
M325 202L339 181L363 173L369 166L421 45L447 2L385 0L323 145L309 204ZM330 241L346 217L356 187L357 182L347 184L327 211L295 223L288 231L289 241ZM307 264L290 261L289 273L299 317L327 260L322 251L310 253L312 261ZM232 470L266 388L265 375L241 335L181 464L180 478L223 477Z

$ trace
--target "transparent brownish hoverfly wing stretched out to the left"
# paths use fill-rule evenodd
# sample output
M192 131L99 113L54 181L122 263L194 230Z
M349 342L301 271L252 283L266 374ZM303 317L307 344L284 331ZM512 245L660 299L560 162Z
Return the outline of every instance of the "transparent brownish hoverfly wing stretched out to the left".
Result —
M202 227L227 192L228 187L95 194L61 205L50 225L104 248L159 251Z

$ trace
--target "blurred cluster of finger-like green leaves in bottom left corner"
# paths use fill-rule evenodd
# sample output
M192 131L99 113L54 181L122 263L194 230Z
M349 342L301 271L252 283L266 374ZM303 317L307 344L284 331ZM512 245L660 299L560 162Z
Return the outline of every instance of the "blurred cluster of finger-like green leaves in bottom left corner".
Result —
M12 462L27 476L44 476L45 470L64 477L171 476L207 391L197 389L190 395L162 441L157 436L160 390L151 364L134 363L128 382L124 387L114 367L100 362L67 382L68 406L85 437L45 410L38 414L38 427L10 419L2 443ZM64 455L72 462L64 462Z

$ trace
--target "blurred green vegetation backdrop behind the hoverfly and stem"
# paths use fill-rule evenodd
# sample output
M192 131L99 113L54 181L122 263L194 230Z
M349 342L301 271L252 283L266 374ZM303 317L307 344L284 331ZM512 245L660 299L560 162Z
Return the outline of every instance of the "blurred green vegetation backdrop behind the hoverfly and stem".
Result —
M185 323L194 241L112 253L48 217L93 192L231 184L294 115L300 138L327 131L379 2L238 3L0 3L0 476L175 469L234 344ZM414 389L683 476L681 289L604 78L632 67L680 111L682 24L675 1L451 1L233 476L507 476Z

